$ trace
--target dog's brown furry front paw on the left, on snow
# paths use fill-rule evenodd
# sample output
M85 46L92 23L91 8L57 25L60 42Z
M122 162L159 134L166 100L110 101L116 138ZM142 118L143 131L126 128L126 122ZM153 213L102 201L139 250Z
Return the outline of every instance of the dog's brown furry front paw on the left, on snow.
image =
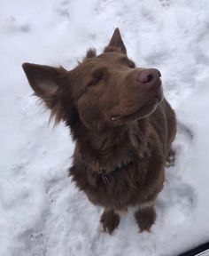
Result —
M100 222L102 223L104 232L108 232L111 235L113 230L119 226L120 216L113 210L104 210Z

